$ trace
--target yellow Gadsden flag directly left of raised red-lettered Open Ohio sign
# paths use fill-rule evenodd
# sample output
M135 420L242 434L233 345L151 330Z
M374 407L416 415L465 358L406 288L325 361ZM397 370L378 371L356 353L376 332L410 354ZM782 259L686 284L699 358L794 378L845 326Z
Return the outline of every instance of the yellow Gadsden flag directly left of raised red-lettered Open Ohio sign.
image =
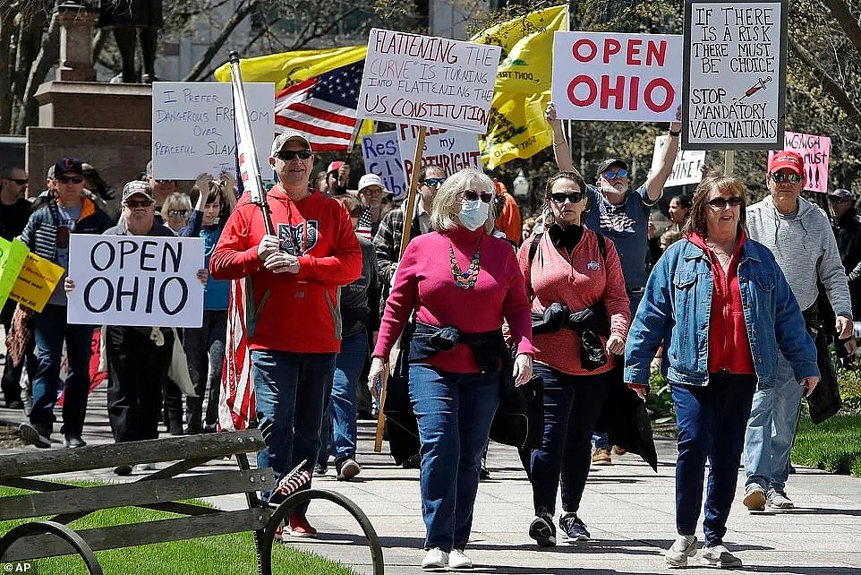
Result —
M531 158L553 143L544 107L550 101L553 32L566 28L566 6L560 5L504 21L473 36L473 42L502 47L490 125L481 141L485 166Z

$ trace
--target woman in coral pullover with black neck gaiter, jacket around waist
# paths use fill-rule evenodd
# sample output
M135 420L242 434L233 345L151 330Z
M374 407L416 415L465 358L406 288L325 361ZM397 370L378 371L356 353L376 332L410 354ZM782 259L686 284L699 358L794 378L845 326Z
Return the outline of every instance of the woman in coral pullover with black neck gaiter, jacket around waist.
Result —
M589 539L577 511L589 474L592 428L612 378L621 375L615 356L625 351L631 319L616 246L581 224L585 190L579 174L550 177L545 202L556 223L518 254L532 298L535 373L544 379L544 433L529 458L535 506L529 536L542 547L556 545L560 475L559 526L571 541Z

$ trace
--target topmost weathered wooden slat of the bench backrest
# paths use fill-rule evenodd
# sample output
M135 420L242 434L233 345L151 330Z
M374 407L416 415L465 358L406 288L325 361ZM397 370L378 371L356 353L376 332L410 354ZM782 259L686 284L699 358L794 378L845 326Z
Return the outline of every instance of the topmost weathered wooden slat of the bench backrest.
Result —
M88 445L74 450L10 453L0 456L0 478L53 475L178 459L216 459L236 453L260 451L264 445L260 430L251 429L166 437L142 442Z

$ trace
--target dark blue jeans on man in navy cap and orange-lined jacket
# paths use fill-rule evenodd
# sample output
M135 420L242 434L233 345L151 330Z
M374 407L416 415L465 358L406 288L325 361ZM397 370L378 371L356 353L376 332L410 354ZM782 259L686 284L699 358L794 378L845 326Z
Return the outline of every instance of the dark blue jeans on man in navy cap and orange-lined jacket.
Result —
M60 361L63 341L69 369L65 378L63 424L65 434L81 435L90 391L90 356L93 326L66 323L64 305L48 304L33 321L38 368L33 380L33 409L30 424L49 435L54 427L54 404L60 391Z

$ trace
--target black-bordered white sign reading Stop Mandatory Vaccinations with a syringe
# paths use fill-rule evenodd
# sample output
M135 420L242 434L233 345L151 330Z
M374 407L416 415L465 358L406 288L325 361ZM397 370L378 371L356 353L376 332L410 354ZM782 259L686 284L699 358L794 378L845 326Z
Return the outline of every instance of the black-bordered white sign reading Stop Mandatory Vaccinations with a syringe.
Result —
M783 144L786 0L686 0L682 149Z

